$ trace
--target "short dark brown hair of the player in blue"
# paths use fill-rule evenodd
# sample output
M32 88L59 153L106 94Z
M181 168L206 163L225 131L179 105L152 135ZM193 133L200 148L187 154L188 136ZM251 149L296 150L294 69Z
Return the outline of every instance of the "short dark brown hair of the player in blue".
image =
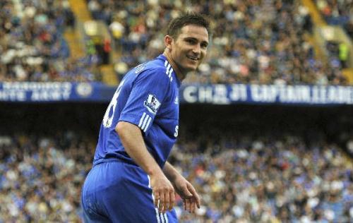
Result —
M208 37L210 37L210 21L205 15L195 12L188 12L170 21L167 28L167 35L177 38L181 28L185 25L198 25L206 28Z

